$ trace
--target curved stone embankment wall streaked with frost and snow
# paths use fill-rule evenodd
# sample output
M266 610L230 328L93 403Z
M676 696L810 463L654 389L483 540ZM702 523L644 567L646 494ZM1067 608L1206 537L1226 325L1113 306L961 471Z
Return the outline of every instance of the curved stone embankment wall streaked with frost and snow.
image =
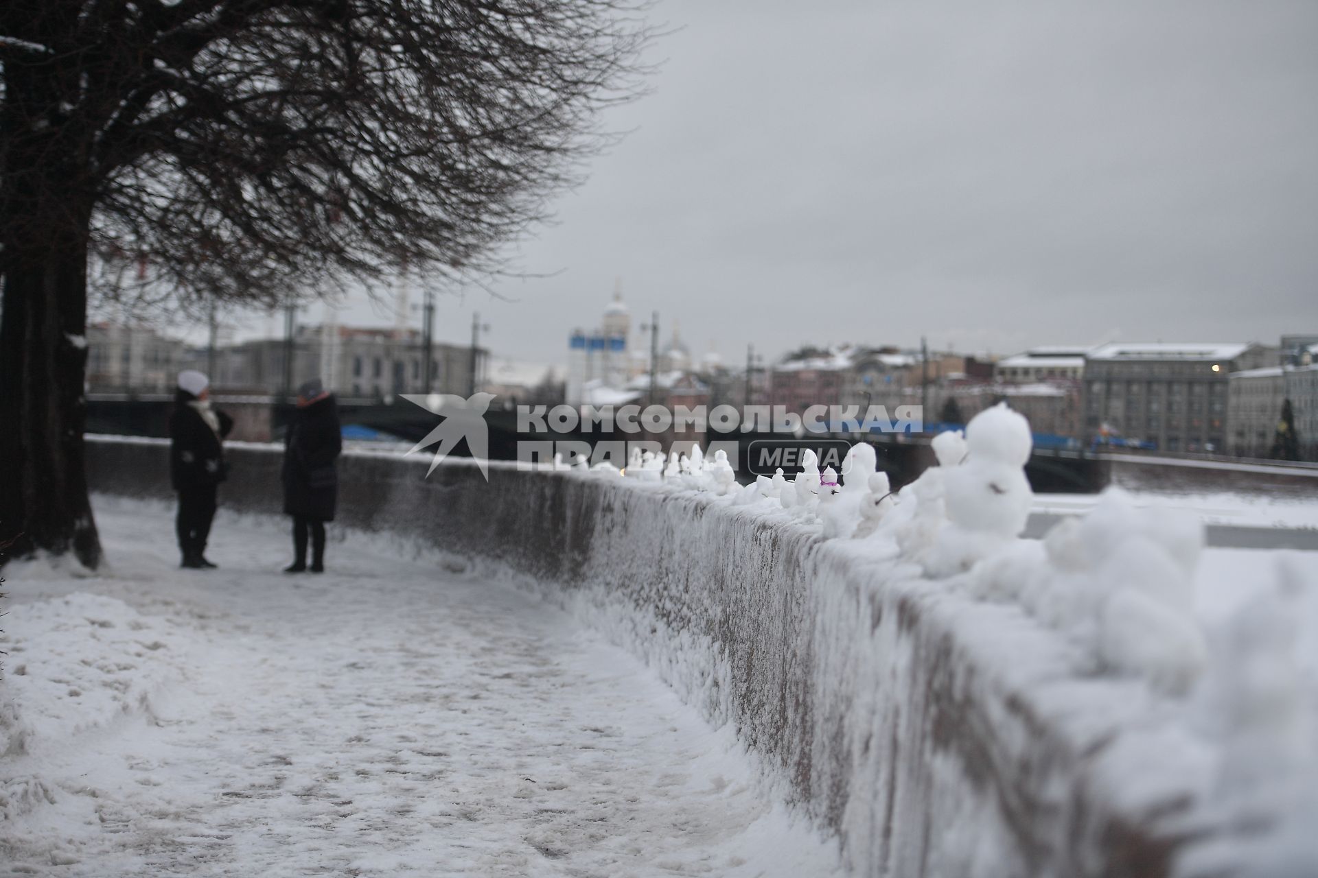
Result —
M166 444L87 453L95 491L173 496ZM229 455L221 505L278 515L279 450ZM540 583L734 724L861 874L1161 875L1194 835L1202 766L1178 741L1123 782L1166 732L1141 684L1083 679L1012 607L708 494L496 465L488 483L468 463L424 478L427 462L347 454L339 523Z

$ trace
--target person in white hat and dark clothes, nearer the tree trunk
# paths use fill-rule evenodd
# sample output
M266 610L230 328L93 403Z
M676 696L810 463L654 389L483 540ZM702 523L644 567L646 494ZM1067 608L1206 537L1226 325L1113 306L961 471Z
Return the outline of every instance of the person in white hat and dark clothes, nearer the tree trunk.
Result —
M202 373L178 374L178 392L169 419L170 482L178 491L178 548L181 566L191 570L215 567L206 558L206 541L215 519L216 490L228 475L224 437L233 419L211 408L211 382Z

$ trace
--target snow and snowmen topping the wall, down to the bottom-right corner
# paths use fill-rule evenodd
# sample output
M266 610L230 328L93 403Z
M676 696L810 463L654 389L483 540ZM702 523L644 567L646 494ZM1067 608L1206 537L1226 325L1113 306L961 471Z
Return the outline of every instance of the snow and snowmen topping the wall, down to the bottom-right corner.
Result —
M1140 753L1116 762L1140 762L1145 748L1176 740L1190 749L1189 762L1202 753L1206 766L1217 766L1186 774L1203 786L1182 820L1211 841L1186 848L1184 874L1290 875L1311 867L1318 669L1301 661L1297 620L1314 616L1301 596L1318 599L1311 583L1307 591L1301 583L1298 563L1281 557L1276 570L1252 571L1265 584L1213 631L1197 612L1205 528L1194 512L1140 508L1110 488L1083 517L1061 520L1041 541L1023 540L1033 500L1024 417L992 407L965 436L937 436L933 452L938 465L899 494L876 471L873 448L859 444L841 487L807 454L795 480L780 471L760 477L733 503L780 509L824 538L854 545L859 557L891 559L894 574L913 565L928 586L1019 607L1078 648L1081 673L1147 684L1152 700L1137 702L1140 710L1168 725L1144 744L1131 738L1124 746ZM684 484L706 490L696 479ZM1141 786L1122 795L1137 800Z

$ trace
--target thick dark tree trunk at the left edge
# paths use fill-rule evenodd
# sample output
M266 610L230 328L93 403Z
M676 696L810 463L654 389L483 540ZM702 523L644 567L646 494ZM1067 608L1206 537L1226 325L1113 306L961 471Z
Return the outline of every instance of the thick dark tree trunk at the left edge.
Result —
M80 233L4 242L0 545L12 541L11 557L72 549L95 567L100 538L83 454L88 215L80 212Z

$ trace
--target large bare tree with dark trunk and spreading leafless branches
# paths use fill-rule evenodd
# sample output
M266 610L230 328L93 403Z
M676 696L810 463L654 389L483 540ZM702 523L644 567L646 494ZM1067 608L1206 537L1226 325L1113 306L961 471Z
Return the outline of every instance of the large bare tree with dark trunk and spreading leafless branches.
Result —
M0 540L100 546L94 283L285 303L498 267L637 93L630 0L0 4Z

